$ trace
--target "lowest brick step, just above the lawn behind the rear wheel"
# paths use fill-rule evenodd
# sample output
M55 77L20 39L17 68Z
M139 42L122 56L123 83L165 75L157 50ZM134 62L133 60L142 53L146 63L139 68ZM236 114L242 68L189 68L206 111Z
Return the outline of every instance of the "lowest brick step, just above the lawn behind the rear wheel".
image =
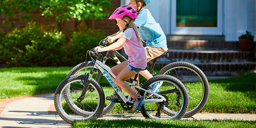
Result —
M150 65L152 62L149 62ZM156 67L164 67L167 62L156 62ZM206 76L239 76L246 71L255 71L256 62L238 62L238 63L192 63L199 67Z

